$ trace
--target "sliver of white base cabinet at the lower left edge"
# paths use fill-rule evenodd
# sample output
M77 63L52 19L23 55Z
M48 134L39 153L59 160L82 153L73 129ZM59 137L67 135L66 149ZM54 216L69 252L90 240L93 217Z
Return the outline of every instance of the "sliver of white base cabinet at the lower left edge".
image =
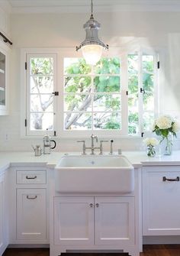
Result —
M8 245L8 222L5 196L5 174L0 174L0 255Z

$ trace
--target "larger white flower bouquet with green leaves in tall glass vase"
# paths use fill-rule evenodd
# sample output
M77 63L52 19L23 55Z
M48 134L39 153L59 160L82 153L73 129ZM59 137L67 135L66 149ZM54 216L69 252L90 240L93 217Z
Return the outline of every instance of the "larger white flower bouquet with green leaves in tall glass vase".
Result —
M180 125L177 121L168 115L162 115L156 119L153 126L153 132L161 136L161 141L166 141L165 154L172 154L172 136L177 136L176 133L180 130Z

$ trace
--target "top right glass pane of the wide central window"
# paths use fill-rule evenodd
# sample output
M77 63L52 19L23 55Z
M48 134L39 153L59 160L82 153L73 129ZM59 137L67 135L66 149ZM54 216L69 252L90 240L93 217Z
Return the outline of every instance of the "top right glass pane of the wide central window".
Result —
M101 58L95 65L95 74L119 74L120 73L120 59Z

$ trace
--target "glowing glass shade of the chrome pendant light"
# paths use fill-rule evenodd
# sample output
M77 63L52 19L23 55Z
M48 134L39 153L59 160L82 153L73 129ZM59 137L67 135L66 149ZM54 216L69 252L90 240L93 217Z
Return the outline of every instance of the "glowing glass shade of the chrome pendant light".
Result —
M82 47L82 55L85 58L85 62L89 65L95 65L102 55L103 47L98 44L88 44Z

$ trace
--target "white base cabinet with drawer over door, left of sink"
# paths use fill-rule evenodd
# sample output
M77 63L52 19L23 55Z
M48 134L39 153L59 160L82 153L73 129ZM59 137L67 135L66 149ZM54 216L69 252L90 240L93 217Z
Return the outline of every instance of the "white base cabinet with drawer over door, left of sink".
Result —
M9 170L10 244L49 243L47 170L41 165Z

